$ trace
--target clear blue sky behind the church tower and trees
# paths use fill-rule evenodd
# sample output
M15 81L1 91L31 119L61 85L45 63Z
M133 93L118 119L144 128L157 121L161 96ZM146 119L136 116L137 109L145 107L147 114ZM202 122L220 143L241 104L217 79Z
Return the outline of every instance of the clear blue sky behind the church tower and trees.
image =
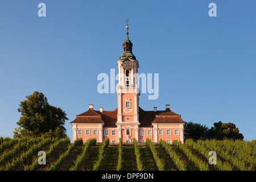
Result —
M46 4L46 17L38 4ZM210 17L209 3L217 16ZM159 97L141 94L184 121L212 127L232 122L246 140L256 129L256 2L250 1L0 1L0 135L13 137L19 102L35 90L61 107L69 122L93 104L117 108L117 94L100 94L100 73L117 72L129 37L139 73L159 73Z

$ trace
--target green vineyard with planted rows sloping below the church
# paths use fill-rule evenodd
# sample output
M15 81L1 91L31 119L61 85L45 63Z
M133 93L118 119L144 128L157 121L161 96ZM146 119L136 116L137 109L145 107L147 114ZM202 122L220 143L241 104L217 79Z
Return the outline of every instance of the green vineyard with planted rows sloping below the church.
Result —
M120 140L121 141L121 140ZM45 152L45 164L39 163ZM209 151L216 164L209 164ZM110 144L69 138L0 137L1 171L255 171L256 140L185 140Z

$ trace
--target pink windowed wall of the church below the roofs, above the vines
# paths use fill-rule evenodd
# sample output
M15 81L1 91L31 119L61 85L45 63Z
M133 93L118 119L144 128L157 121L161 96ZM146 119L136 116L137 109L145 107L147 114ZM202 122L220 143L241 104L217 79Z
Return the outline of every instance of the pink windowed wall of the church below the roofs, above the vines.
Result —
M97 125L73 125L76 126L76 130L73 133L73 140L76 138L82 138L84 142L88 139L96 138L97 142L103 142L104 139L109 138L111 144L118 144L119 138L123 139L124 143L133 142L132 139L136 138L138 132L138 142L144 143L146 139L152 140L154 143L158 143L160 139L165 140L168 143L172 143L174 140L183 142L183 127L180 125L161 125L158 130L154 130L152 127L139 127L138 131L134 126L123 125L121 135L118 135L118 129L116 127L106 127L99 129ZM127 137L127 130L129 130L130 137ZM76 131L76 132L75 132ZM182 136L183 135L183 136Z

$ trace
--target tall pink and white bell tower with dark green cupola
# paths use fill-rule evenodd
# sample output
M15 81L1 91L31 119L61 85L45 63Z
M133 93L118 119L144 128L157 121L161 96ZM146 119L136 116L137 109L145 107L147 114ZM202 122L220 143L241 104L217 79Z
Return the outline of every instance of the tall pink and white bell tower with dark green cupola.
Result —
M139 86L137 82L139 63L133 55L133 43L129 40L129 19L126 19L126 40L123 42L123 53L117 61L118 85L118 114L116 125L121 135L122 126L134 126L138 129L139 123ZM126 132L125 132L126 133ZM127 132L133 135L133 131ZM119 135L119 136L120 136ZM138 138L138 130L133 138ZM124 136L122 136L125 138ZM120 137L119 137L120 138Z

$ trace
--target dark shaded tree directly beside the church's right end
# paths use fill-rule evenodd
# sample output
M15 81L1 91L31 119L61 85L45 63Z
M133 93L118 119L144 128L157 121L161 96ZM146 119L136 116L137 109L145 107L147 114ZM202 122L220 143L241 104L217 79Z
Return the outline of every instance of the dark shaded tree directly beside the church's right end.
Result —
M184 138L191 138L194 140L197 139L206 139L206 134L208 127L206 125L201 125L200 123L193 123L189 121L185 125Z

